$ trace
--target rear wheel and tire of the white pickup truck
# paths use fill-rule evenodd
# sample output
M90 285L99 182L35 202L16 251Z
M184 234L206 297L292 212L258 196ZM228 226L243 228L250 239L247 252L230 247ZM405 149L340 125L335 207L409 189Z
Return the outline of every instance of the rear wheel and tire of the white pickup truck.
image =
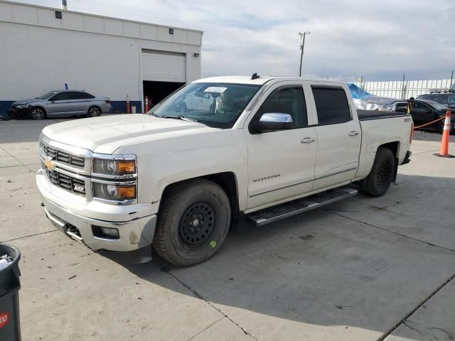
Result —
M360 192L380 197L390 187L395 173L395 156L389 148L379 147L370 174L360 183Z

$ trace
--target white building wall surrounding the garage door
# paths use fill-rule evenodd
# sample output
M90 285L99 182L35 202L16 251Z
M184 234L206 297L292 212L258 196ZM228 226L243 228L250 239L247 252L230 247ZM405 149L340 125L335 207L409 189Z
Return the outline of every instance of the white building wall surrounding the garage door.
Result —
M62 19L55 18L61 11ZM0 102L81 89L141 100L141 50L186 55L186 82L200 78L202 32L0 1Z

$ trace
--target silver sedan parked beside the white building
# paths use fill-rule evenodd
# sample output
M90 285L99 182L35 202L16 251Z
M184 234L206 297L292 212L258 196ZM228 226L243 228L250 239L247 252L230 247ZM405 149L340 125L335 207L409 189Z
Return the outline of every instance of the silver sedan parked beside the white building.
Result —
M86 115L97 117L112 110L108 97L95 97L80 90L55 90L32 99L14 102L11 116L45 119L46 117Z

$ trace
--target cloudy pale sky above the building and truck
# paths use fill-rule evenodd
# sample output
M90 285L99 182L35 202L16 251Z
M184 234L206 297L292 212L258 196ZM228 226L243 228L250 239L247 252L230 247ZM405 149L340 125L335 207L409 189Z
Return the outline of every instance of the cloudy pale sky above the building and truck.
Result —
M60 0L18 2L60 7ZM449 79L455 0L67 0L68 9L204 31L202 76Z

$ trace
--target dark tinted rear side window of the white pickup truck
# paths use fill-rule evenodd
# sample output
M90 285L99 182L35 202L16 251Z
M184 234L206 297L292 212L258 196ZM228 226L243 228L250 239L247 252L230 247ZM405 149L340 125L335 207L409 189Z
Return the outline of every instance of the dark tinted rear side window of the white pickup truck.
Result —
M350 121L346 92L341 87L312 86L318 124L337 124Z

